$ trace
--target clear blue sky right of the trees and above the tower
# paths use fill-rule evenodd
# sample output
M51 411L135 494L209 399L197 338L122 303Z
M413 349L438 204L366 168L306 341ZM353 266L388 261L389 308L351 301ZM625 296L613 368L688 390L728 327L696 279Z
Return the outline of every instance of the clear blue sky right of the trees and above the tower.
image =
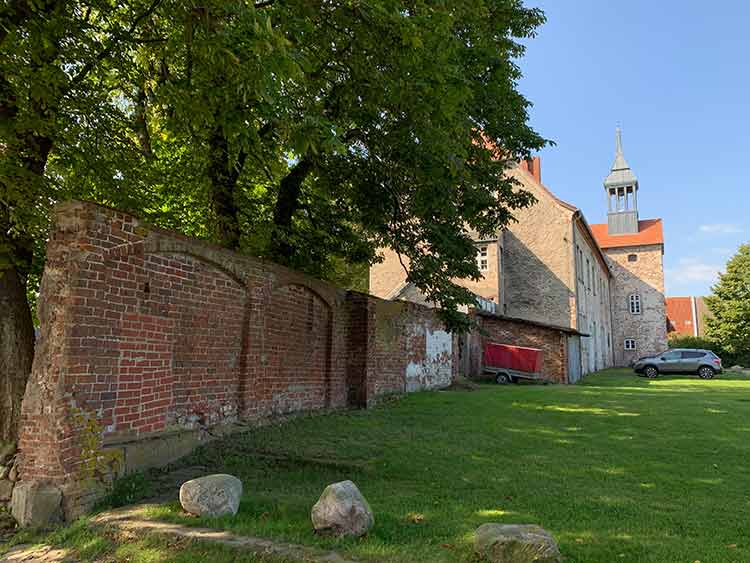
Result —
M665 228L667 295L702 295L750 240L750 3L526 0L547 15L520 61L542 181L606 221L623 130L641 219Z

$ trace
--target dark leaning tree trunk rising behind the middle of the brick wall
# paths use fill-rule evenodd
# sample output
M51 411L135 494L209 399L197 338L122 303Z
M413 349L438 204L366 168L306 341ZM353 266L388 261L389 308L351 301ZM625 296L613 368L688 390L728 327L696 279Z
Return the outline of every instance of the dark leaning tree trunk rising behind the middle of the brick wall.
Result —
M296 252L290 242L292 218L299 209L299 196L302 193L302 182L313 170L313 161L303 157L289 171L279 185L279 197L273 210L273 238L271 239L271 257L282 264L289 264Z

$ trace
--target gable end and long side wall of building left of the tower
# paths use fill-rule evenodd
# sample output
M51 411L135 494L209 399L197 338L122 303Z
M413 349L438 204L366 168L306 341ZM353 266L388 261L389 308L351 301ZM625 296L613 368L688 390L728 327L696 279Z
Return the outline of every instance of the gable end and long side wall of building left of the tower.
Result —
M538 157L509 174L537 203L502 233L503 313L586 335L569 341L572 381L611 366L611 272L583 212L544 186Z

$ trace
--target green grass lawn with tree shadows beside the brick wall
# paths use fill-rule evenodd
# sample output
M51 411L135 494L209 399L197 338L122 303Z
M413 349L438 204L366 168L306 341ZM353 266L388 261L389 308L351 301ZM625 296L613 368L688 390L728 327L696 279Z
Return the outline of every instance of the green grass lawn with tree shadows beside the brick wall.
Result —
M243 480L238 516L194 519L173 503L153 517L370 561L470 560L484 522L539 524L568 563L750 561L750 378L741 375L608 370L576 386L414 394L235 435L190 462ZM375 527L362 540L316 538L310 508L343 479L359 485ZM56 543L77 541L68 535ZM178 560L160 549L164 558L127 560Z

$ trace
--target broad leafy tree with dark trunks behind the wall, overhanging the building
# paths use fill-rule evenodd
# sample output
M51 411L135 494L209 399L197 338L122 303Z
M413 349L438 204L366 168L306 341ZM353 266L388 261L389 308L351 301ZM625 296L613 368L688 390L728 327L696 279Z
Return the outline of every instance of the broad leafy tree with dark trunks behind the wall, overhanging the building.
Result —
M471 296L451 279L479 276L468 229L533 201L503 172L545 144L514 41L542 21L516 0L206 2L139 47L122 95L141 139L202 167L214 240L327 278L390 246L455 325Z

